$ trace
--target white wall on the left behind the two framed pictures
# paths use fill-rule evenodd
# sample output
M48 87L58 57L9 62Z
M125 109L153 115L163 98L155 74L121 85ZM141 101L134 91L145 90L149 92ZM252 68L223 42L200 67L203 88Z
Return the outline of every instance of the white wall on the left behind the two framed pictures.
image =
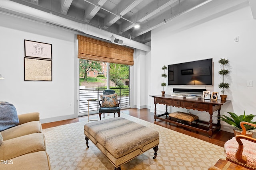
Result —
M76 117L75 34L0 13L0 101L42 123ZM24 39L52 44L52 81L24 81ZM72 105L69 107L69 105Z

